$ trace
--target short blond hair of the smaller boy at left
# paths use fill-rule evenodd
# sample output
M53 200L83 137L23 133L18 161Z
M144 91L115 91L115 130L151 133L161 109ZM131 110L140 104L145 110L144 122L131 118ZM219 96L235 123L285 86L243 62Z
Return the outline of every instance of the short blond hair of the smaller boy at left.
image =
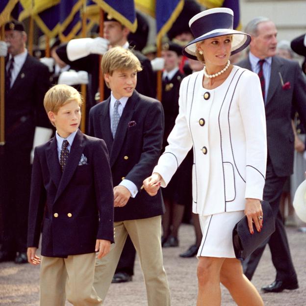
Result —
M60 107L63 105L77 101L78 105L82 105L82 97L76 88L65 85L58 84L51 87L44 98L44 106L47 114L51 111L57 114Z

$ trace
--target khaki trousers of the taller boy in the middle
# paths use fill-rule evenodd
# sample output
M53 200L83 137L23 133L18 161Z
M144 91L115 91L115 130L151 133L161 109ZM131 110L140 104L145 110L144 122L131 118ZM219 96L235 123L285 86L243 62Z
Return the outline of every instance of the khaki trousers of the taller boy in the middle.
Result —
M169 306L170 290L163 267L161 216L115 222L115 244L109 254L96 260L94 287L104 300L129 234L139 256L149 306Z

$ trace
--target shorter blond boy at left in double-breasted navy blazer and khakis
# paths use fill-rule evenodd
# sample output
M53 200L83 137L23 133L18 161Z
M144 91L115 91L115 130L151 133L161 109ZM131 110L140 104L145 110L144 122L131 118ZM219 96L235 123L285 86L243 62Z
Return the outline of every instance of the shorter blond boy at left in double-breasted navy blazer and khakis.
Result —
M109 158L101 139L79 129L81 97L56 85L44 106L56 135L35 148L28 219L27 257L36 255L43 224L40 305L102 305L94 287L98 258L114 242L113 186ZM66 287L66 290L65 290Z

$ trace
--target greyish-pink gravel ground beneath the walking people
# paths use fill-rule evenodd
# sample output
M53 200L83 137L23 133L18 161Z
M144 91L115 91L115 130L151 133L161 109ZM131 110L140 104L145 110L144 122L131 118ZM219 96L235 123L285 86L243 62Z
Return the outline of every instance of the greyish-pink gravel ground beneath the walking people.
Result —
M281 293L262 294L265 306L306 306L306 233L287 228L293 261L300 288ZM193 243L193 228L183 224L179 230L180 246L163 249L164 265L171 288L172 306L195 306L197 296L196 258L180 258ZM271 283L275 270L267 248L256 270L253 282L257 289ZM39 267L29 264L0 263L0 306L38 306ZM66 306L70 306L68 302ZM105 306L146 306L146 292L139 262L135 265L133 281L111 284ZM225 288L222 288L222 306L234 306Z

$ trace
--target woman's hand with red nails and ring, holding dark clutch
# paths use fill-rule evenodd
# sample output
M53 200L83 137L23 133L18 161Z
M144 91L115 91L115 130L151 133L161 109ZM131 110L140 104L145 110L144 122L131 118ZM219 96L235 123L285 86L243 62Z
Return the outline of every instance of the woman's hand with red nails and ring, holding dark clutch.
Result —
M251 234L254 234L253 223L257 231L262 228L263 215L261 204L258 199L246 199L244 213L248 218L248 224Z

